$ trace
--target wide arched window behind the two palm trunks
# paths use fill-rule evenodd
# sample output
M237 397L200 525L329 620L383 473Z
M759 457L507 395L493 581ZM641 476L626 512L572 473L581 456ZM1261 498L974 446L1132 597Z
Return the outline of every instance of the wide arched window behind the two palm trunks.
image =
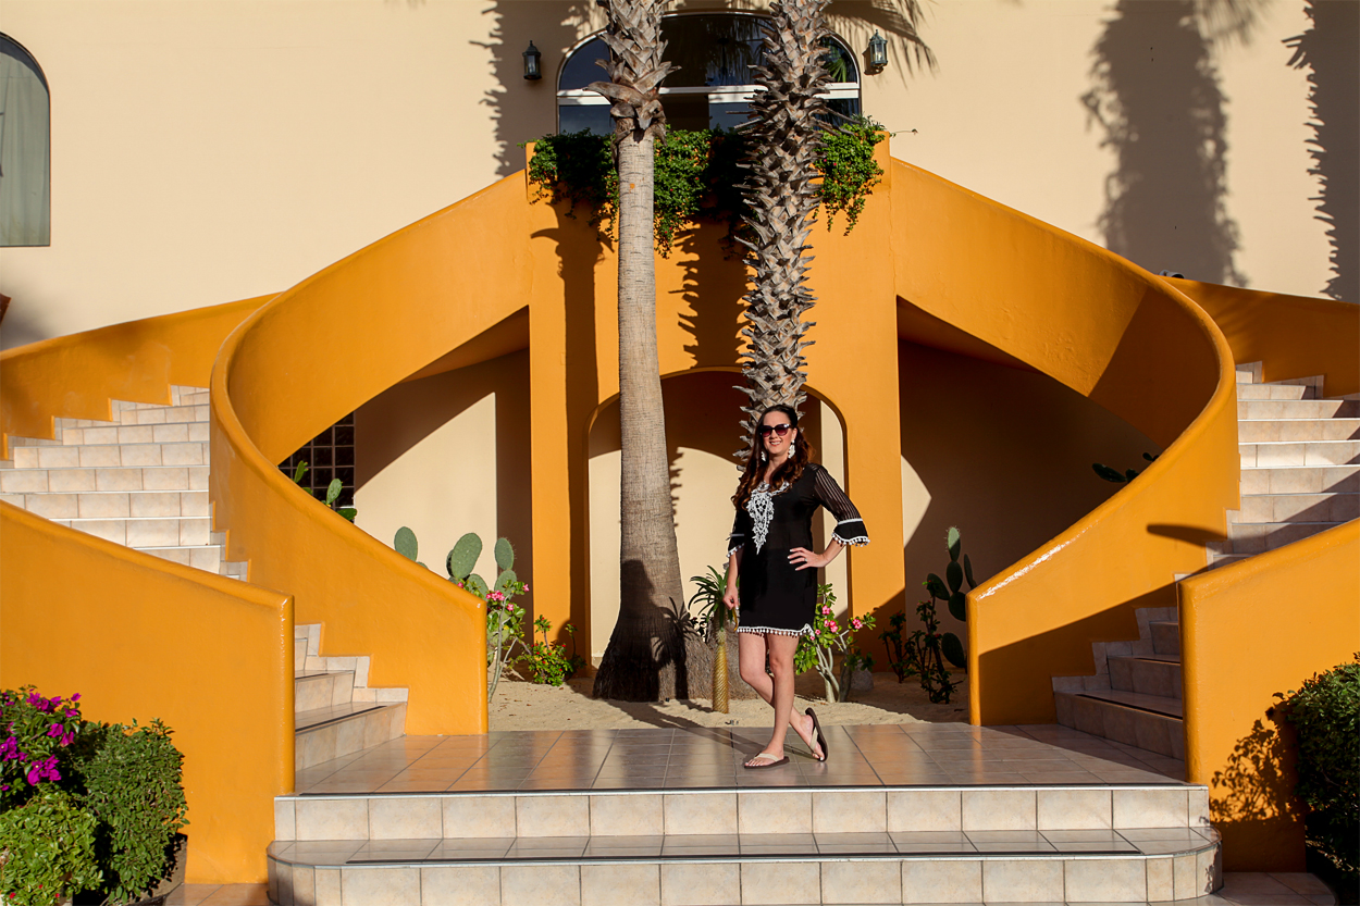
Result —
M744 12L679 14L661 20L666 60L676 64L661 88L666 121L677 129L733 129L747 120L751 67L760 61L760 16ZM840 117L860 114L860 71L850 50L827 38L827 68L832 83L828 105ZM577 48L558 76L558 132L588 129L613 132L609 102L586 88L604 80L596 60L607 60L609 48L592 38Z

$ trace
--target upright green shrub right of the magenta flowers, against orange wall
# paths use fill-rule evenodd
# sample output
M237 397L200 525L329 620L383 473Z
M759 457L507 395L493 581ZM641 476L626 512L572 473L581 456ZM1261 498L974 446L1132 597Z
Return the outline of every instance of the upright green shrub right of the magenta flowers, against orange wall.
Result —
M112 724L102 728L83 767L86 808L98 820L97 853L109 902L140 899L166 872L166 852L188 822L180 785L184 755L170 728Z

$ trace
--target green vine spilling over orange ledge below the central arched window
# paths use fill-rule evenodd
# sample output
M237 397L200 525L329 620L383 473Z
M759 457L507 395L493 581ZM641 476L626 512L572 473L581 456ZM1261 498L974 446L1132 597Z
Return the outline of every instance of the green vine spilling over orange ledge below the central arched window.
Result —
M828 129L817 170L823 174L819 199L827 208L827 227L845 212L846 233L854 229L865 199L883 178L873 148L885 135L864 117ZM529 182L534 200L564 203L567 216L578 204L590 211L590 224L613 238L619 212L619 171L613 163L609 136L590 132L545 135L534 143L529 161ZM728 224L728 248L737 249L733 237L744 229L748 212L741 192L741 159L747 137L722 129L670 129L656 143L656 242L669 257L680 231L700 219Z

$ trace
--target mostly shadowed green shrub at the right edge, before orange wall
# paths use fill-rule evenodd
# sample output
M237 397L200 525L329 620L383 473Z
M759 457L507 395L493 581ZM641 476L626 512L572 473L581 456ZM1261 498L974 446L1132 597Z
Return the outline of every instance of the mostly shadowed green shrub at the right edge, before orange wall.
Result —
M1289 690L1281 709L1299 732L1299 799L1308 843L1345 872L1360 869L1360 653Z

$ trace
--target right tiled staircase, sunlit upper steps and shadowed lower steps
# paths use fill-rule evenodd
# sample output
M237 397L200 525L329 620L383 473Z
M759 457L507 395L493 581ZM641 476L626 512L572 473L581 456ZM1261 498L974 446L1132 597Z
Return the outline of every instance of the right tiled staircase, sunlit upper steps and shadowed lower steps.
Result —
M1206 570L1360 517L1360 400L1323 399L1319 377L1262 384L1261 363L1239 365L1238 439L1242 509L1206 546ZM1178 615L1137 616L1137 641L1092 645L1093 676L1054 677L1058 722L1185 759Z

